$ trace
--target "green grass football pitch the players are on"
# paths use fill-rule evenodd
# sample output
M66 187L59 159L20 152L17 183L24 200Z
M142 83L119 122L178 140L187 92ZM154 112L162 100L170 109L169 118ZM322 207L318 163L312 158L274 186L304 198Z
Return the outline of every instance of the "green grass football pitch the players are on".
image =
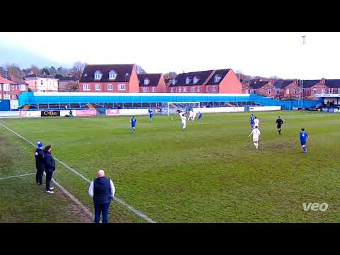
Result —
M339 222L340 115L261 112L256 150L250 113L205 113L181 130L179 115L3 119L30 142L52 145L52 155L87 179L98 169L115 195L154 222ZM278 135L275 121L283 118ZM300 128L310 134L307 154ZM0 222L91 222L56 188L37 187L34 147L0 126ZM56 162L55 179L92 212L89 183ZM45 181L45 177L44 177ZM325 211L302 203L327 203ZM147 222L111 203L110 222Z

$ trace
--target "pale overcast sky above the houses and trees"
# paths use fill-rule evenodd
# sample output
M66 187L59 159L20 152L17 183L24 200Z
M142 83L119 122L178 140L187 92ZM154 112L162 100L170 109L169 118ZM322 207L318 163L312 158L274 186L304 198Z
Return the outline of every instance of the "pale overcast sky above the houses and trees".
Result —
M149 73L232 68L252 76L340 79L339 47L340 33L0 33L0 63L70 67L79 60L140 64Z

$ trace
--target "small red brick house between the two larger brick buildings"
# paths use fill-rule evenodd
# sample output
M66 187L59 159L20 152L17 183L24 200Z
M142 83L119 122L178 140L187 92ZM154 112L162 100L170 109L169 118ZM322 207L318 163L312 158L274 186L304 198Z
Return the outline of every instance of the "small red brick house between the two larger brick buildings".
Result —
M141 93L164 93L166 84L162 74L137 74Z

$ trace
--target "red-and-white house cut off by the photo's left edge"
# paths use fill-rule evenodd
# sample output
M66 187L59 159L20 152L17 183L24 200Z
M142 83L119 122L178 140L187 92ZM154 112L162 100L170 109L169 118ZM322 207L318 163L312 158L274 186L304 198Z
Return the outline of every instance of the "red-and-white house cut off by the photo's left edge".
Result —
M0 99L18 100L19 95L28 91L28 84L22 79L10 76L4 79L0 76Z

